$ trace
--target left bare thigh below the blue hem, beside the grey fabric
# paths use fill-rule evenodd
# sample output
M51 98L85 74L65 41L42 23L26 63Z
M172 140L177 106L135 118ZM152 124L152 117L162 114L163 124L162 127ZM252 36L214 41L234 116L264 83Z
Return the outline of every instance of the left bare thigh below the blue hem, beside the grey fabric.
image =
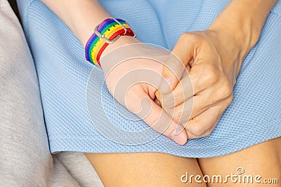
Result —
M195 158L164 153L85 153L105 186L190 186L187 171L202 176ZM192 186L206 186L195 183Z

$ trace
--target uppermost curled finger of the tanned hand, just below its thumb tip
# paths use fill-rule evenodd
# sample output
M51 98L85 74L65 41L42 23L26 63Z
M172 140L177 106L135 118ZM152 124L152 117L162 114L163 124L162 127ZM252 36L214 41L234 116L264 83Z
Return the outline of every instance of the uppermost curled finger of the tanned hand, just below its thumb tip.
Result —
M193 95L203 94L203 92L210 93L206 97L209 100L225 99L232 92L232 89L228 87L227 81L218 77L215 67L211 64L197 63L190 69L190 73L176 85L173 92L162 95L162 99L163 103L166 102L166 107L170 108L191 99Z

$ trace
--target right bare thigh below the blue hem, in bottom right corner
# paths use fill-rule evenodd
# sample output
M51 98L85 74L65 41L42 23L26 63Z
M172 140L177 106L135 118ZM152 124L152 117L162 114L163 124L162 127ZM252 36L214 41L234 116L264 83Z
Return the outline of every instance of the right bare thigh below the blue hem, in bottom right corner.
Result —
M214 176L221 175L226 177L231 173L242 176L241 183L233 183L228 178L226 183L209 183L207 186L280 186L281 185L281 137L265 141L261 144L251 146L242 151L223 155L216 158L201 158L198 163L204 175ZM244 169L243 174L237 173L237 168ZM238 172L242 172L242 169ZM262 176L258 181L268 183L248 183L247 176ZM249 177L251 177L249 176ZM259 178L259 177L258 177ZM207 178L206 178L207 179ZM214 178L215 179L215 178ZM223 178L226 179L226 178ZM239 179L238 177L236 179ZM264 181L264 179L269 179ZM278 179L278 183L273 184L274 179ZM215 179L216 180L216 179ZM235 179L233 179L235 181ZM251 181L249 179L249 181Z

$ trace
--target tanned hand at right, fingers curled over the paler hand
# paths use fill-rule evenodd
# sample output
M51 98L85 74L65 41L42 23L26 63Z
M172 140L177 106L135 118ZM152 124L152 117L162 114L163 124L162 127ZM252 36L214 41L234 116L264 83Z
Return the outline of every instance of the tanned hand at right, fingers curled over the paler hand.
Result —
M174 67L173 62L167 62L163 76L173 91L160 85L156 96L167 113L175 113L173 120L185 126L188 139L211 134L232 102L233 86L245 55L242 51L233 37L214 30L185 33L178 39L173 53L184 67L191 67L190 74L181 78L183 69L177 67L172 72L175 68L171 71L168 67ZM171 99L175 99L174 106L165 105Z

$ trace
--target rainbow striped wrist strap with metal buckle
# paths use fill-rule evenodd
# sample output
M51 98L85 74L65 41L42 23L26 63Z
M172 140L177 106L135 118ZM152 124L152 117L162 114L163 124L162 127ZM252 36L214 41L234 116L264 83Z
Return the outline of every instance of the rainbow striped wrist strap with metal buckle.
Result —
M107 18L95 29L85 47L86 60L100 66L100 55L105 48L119 39L120 36L133 36L133 30L125 20Z

